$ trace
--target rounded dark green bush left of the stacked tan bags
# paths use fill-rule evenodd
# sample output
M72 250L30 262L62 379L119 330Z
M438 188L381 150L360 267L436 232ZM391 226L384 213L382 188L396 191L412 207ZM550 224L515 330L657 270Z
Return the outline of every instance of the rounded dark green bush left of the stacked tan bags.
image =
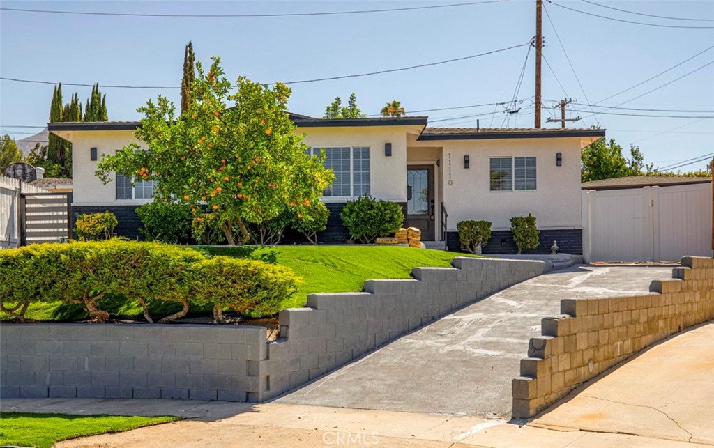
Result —
M373 243L379 236L394 235L401 228L404 214L398 203L363 195L346 203L340 218L353 240Z

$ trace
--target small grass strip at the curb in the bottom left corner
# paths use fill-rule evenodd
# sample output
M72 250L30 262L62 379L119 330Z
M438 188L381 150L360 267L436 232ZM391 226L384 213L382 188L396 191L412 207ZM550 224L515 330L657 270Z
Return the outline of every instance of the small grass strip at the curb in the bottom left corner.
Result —
M0 446L49 448L61 440L129 431L150 424L173 422L179 418L0 412Z

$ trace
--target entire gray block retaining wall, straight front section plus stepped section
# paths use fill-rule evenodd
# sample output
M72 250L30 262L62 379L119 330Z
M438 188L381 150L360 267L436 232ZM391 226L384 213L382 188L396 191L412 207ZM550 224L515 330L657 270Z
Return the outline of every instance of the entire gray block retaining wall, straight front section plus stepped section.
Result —
M541 261L455 258L366 292L313 294L264 327L0 325L1 397L188 398L262 402L468 303L543 273Z

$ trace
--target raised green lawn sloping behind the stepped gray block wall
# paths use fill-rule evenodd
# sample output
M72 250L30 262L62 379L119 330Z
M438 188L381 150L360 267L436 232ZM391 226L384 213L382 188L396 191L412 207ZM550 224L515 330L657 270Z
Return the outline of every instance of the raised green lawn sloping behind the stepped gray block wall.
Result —
M286 297L285 308L302 307L307 295L313 292L361 291L364 280L370 278L409 278L412 268L448 267L454 257L470 256L443 250L364 245L199 246L198 249L211 255L263 260L291 268L301 280L298 291L292 297ZM113 316L141 316L139 303L123 297L105 297L101 308ZM176 312L180 305L157 300L150 302L149 308L152 315L168 315ZM191 313L196 312L210 312L210 308L191 307ZM0 312L0 318L7 317ZM26 317L71 321L84 320L87 315L81 305L39 302L30 305Z

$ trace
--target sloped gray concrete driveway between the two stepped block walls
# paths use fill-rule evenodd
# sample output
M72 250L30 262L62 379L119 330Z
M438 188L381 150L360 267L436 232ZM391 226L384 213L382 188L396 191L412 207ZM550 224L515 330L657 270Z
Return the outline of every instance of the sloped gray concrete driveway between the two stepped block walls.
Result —
M509 417L511 379L560 299L648 291L671 268L573 266L541 275L283 395L278 403Z

